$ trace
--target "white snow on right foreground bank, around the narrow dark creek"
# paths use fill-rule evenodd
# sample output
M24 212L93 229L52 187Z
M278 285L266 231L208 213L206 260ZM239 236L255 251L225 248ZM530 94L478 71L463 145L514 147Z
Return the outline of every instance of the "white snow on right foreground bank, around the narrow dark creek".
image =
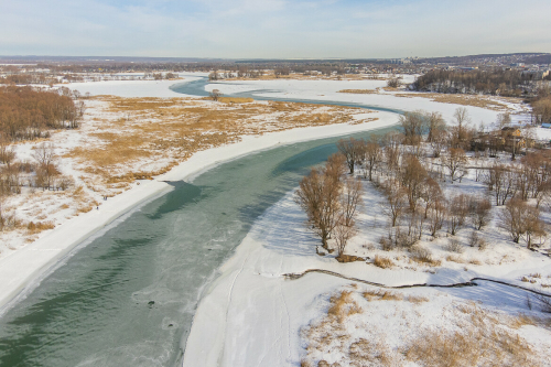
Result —
M327 312L332 294L350 289L347 285L354 282L324 273L309 273L298 280L288 280L283 274L323 269L395 287L425 282L451 284L466 282L474 277L499 278L522 284L519 282L520 274L540 272L543 277L551 276L551 260L533 253L504 267L469 267L468 271L465 271L465 266L426 271L422 268L379 269L361 261L338 263L334 256L320 257L315 253L318 240L304 229L304 219L290 192L257 220L201 301L183 366L300 365L304 354L300 347L304 345L301 330ZM365 240L372 237L371 231L371 228L364 227L357 237ZM514 256L521 251L529 252L506 244L501 246ZM482 258L499 256L494 252L485 250ZM545 281L549 282L549 279ZM374 289L359 283L358 292ZM451 317L446 307L465 301L479 301L486 309L508 315L531 312L526 305L526 291L489 282L480 282L476 288L418 288L400 292L424 296L430 302L415 305L415 312L403 302L379 303L377 307L358 315L356 321L350 321L348 327L353 330L353 335L357 338L366 331L374 333L376 330L380 335L396 338L414 335L421 326L450 327L457 319ZM523 328L521 336L533 345L549 349L551 333L532 328L536 331ZM387 342L395 347L398 345L397 341ZM328 363L337 358L333 356L332 359L332 353L324 357Z

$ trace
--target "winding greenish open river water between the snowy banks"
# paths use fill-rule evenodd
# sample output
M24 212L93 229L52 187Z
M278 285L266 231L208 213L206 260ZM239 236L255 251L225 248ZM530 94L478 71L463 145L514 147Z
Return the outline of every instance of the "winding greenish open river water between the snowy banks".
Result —
M206 95L206 83L174 90ZM174 182L173 191L75 251L3 314L0 366L180 365L216 270L269 206L336 151L338 139L252 153L193 182Z

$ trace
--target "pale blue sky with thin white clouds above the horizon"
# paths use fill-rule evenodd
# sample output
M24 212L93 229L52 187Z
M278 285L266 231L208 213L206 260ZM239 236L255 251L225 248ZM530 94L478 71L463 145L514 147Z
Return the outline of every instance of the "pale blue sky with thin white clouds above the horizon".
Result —
M551 0L0 0L0 55L393 58L551 52Z

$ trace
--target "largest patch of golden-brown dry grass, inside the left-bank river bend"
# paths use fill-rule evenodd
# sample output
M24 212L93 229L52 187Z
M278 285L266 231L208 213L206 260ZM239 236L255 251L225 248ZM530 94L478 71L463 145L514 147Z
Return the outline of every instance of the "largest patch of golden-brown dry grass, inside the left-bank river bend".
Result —
M95 191L106 186L127 190L137 179L165 173L195 152L238 141L245 134L355 122L350 115L365 112L358 108L233 97L223 97L219 102L115 96L95 99L107 102L105 112L110 117L95 118L97 129L89 133L89 142L65 154L82 164L87 173L82 179ZM150 168L144 168L147 164ZM120 183L125 185L114 186Z

